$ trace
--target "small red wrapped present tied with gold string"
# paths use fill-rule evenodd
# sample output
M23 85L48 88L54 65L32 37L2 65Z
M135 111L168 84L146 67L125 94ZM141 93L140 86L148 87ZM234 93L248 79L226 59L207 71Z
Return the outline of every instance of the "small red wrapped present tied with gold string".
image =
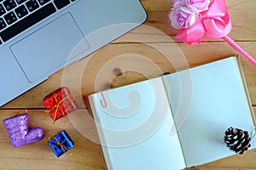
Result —
M77 109L73 96L66 87L58 88L48 94L44 97L43 102L48 110L46 114L49 114L54 122Z

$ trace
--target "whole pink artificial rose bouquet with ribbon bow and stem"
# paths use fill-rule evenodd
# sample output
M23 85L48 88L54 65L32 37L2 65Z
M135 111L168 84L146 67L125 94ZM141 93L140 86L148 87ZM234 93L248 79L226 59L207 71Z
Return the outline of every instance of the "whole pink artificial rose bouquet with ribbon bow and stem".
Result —
M172 0L169 15L172 27L180 30L176 39L188 44L201 43L202 37L224 38L256 67L256 59L234 42L228 33L232 25L225 0Z

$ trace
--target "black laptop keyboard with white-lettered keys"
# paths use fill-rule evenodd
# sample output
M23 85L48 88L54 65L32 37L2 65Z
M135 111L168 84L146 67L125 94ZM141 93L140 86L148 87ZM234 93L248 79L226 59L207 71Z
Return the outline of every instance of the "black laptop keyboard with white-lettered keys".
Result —
M0 0L0 44L75 0Z

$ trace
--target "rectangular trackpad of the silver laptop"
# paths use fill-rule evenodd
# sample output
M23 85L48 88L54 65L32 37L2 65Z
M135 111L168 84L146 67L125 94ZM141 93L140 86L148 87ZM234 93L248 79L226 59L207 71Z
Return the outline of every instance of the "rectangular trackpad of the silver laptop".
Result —
M69 55L83 39L72 15L67 13L15 43L11 50L28 81L33 82L39 77L49 76L72 59ZM89 48L88 42L83 43L83 48L76 48L73 57Z

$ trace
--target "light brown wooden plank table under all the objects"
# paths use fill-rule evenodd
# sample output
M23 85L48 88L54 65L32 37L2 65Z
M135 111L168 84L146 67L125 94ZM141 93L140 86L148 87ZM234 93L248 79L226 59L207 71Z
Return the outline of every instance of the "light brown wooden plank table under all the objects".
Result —
M141 2L148 12L148 20L143 26L120 37L95 54L67 66L65 70L56 72L46 82L3 105L0 110L1 121L26 109L30 116L29 127L43 127L45 137L38 143L14 149L9 144L9 134L3 123L0 123L0 169L105 169L102 150L100 144L97 144L94 122L84 105L85 95L139 82L162 72L179 71L188 66L202 65L237 55L237 52L221 39L205 39L198 46L175 42L172 39L176 31L170 26L167 16L172 8L172 1ZM256 10L256 1L227 0L226 3L233 24L230 37L256 57L256 18L253 14ZM126 56L126 59L122 56ZM185 58L181 59L183 56ZM170 59L173 65L168 62ZM127 68L125 64L131 68ZM256 68L243 58L241 65L253 110L256 112ZM78 100L79 109L53 125L51 118L44 116L42 99L62 85L71 88ZM56 158L46 142L62 129L66 129L70 134L75 147L72 150L73 156L64 155ZM256 150L247 151L243 156L231 156L192 169L256 169Z

